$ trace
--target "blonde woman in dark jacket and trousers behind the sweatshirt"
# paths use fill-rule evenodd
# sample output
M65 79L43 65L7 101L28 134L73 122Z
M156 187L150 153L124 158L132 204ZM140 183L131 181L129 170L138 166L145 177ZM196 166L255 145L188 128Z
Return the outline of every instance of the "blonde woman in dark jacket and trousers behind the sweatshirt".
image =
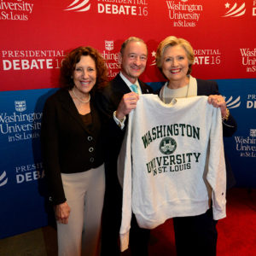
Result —
M168 80L160 89L160 99L170 103L172 98L208 96L208 102L215 108L220 108L224 137L230 137L236 131L236 121L230 115L224 97L218 92L218 84L195 79L190 75L194 61L193 48L185 39L171 36L160 42L156 52L156 65ZM225 161L227 188L230 188L235 180L227 158ZM199 216L173 218L177 255L216 255L216 224L212 208Z

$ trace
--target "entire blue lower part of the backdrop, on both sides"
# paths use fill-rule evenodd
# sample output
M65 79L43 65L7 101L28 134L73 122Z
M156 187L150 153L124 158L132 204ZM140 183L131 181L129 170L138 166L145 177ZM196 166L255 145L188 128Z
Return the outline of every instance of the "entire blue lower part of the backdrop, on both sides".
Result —
M217 80L238 129L224 144L236 185L256 188L256 79ZM150 83L154 90L163 83ZM45 100L56 89L0 92L0 238L49 224L40 152Z

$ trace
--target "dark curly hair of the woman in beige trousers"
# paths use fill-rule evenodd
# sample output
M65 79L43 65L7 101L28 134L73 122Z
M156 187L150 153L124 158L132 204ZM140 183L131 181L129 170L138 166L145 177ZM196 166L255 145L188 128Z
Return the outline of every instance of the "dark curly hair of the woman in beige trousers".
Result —
M105 86L108 82L108 68L102 55L90 46L81 46L73 49L62 61L60 74L61 87L67 90L73 89L73 72L82 55L89 55L96 63L96 84L94 90Z

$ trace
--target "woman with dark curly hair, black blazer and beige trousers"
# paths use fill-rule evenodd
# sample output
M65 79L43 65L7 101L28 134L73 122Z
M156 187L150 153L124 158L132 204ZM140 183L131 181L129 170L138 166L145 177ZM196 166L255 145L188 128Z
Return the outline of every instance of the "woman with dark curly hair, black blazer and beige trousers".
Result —
M97 255L105 192L102 119L94 94L107 82L102 55L73 49L62 62L61 89L44 105L41 143L59 255Z

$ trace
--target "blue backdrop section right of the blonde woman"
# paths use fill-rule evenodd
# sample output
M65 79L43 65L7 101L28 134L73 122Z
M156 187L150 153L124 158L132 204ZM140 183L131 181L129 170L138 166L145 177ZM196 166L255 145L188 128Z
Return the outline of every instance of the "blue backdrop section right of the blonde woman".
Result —
M233 137L224 138L236 186L256 188L256 79L216 81L238 126Z

